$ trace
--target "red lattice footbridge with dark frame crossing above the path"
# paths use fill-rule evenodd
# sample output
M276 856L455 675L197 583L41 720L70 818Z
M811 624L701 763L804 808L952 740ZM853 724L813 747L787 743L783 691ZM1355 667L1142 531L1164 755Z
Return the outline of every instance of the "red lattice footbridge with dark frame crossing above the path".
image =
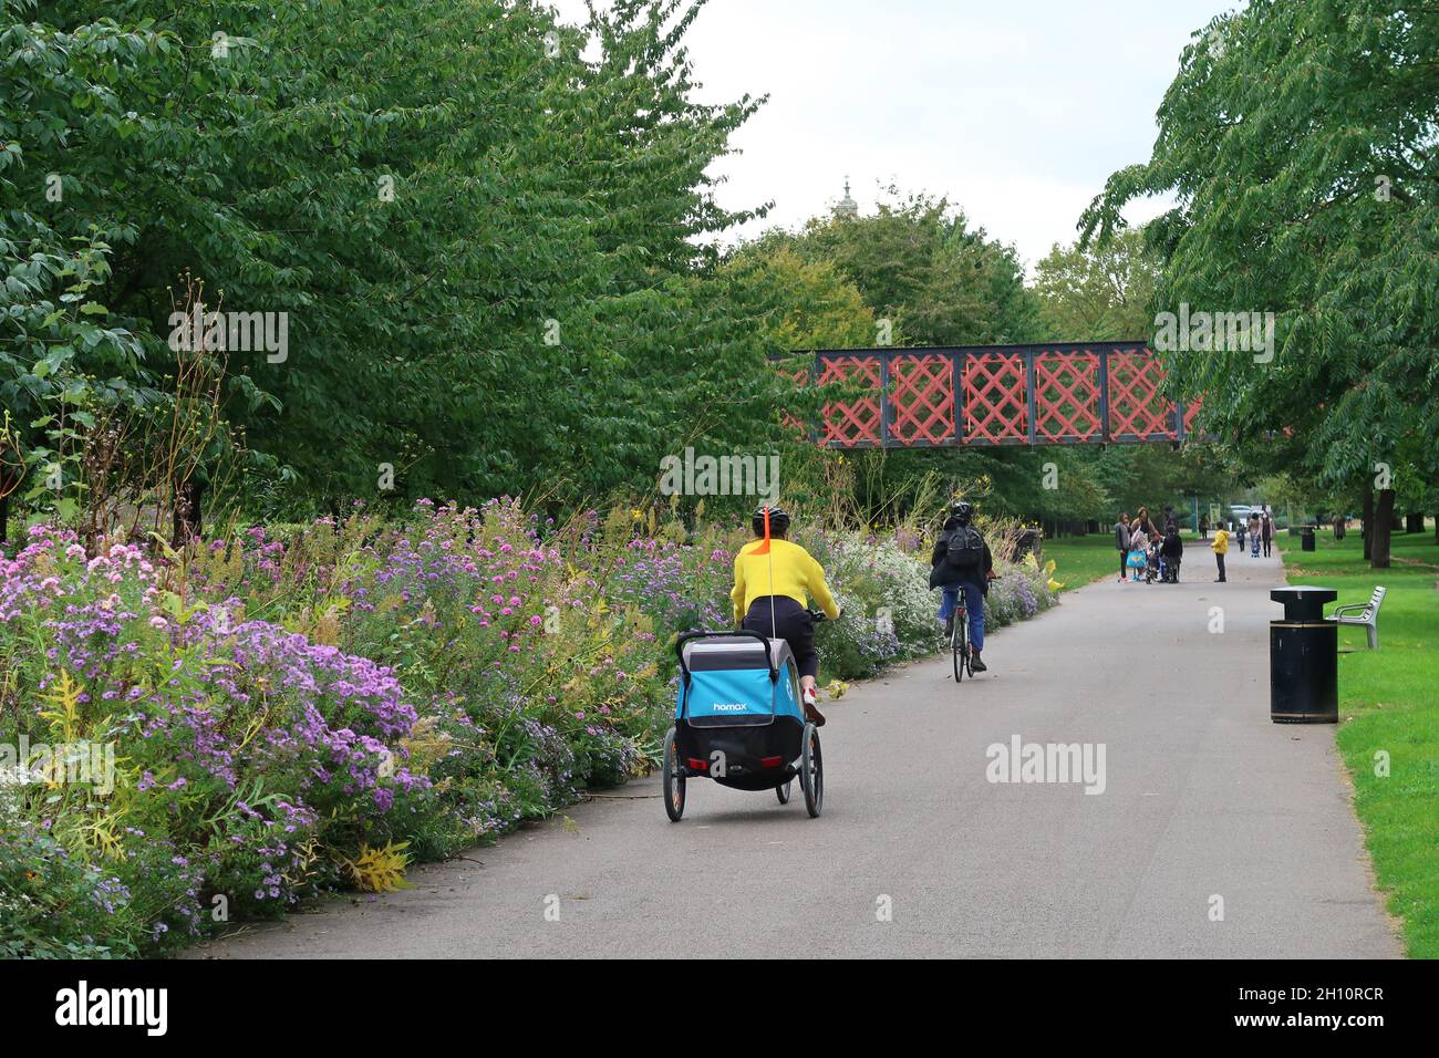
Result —
M1164 367L1141 341L820 350L781 370L863 389L825 404L812 430L823 448L1200 439L1199 400L1164 394Z

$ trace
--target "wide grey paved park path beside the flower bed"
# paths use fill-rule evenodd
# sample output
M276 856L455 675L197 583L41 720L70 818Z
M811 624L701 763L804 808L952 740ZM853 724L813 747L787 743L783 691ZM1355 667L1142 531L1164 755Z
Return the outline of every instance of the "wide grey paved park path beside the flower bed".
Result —
M1399 956L1334 728L1269 721L1279 560L1229 566L1210 583L1194 544L1186 583L1069 593L961 687L947 659L856 685L829 705L820 819L797 785L780 806L691 782L672 825L648 779L194 954ZM1104 792L989 782L1013 736L1102 743Z

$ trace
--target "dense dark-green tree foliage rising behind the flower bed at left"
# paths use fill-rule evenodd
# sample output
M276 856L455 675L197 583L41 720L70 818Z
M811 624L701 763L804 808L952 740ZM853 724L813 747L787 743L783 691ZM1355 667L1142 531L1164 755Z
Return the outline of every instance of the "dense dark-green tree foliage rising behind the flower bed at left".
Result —
M304 505L386 465L409 495L635 487L694 429L685 379L770 379L704 239L751 216L707 173L758 101L694 98L702 0L583 26L501 0L0 1L0 387L32 443L72 379L167 389L186 272L210 309L283 314L283 353L227 350L226 412ZM768 429L764 384L725 396L717 429Z

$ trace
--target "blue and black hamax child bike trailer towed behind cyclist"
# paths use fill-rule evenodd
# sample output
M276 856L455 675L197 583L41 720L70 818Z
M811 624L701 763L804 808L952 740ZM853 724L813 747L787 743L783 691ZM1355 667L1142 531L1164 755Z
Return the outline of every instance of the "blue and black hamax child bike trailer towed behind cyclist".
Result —
M774 790L790 802L796 776L812 818L825 805L819 730L804 720L790 645L758 632L686 632L675 643L679 694L665 736L665 813L685 813L685 782Z

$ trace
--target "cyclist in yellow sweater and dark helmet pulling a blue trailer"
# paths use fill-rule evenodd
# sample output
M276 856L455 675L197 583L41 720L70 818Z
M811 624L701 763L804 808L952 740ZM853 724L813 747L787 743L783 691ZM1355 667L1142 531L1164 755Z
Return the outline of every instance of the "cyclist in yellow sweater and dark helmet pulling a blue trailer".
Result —
M758 540L741 547L734 557L734 590L730 592L734 619L748 632L766 636L773 633L790 645L800 671L804 715L820 727L825 715L814 708L819 654L814 651L814 619L806 605L809 599L814 599L830 620L839 618L839 606L829 593L820 564L809 551L786 538L790 515L778 507L770 508L770 538L766 541L764 511L763 507L755 511L751 521Z

